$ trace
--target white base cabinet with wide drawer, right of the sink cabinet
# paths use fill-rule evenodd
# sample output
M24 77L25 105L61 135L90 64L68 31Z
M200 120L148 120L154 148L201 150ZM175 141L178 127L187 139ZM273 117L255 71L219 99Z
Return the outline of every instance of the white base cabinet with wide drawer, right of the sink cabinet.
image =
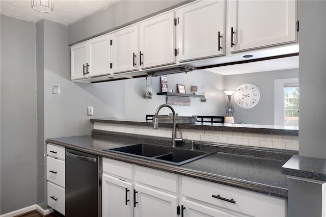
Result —
M194 202L190 207L182 204L184 216L194 216L194 207L201 207L203 213L205 207L211 207L217 211L214 216L287 216L285 199L185 176L181 186L182 200ZM211 208L206 209L207 213L212 212Z

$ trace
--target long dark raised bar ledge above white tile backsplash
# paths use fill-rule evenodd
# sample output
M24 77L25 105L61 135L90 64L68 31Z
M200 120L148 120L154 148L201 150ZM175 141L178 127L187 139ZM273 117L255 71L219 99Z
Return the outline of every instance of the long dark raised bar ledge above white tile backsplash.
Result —
M91 119L91 122L128 124L138 126L153 126L152 120L125 120L125 119ZM160 127L173 127L172 123L159 123ZM275 125L255 125L255 124L227 124L227 123L205 123L196 122L194 124L177 123L177 128L184 129L203 129L221 130L233 132L251 132L279 135L298 135L298 127L294 126L275 126Z

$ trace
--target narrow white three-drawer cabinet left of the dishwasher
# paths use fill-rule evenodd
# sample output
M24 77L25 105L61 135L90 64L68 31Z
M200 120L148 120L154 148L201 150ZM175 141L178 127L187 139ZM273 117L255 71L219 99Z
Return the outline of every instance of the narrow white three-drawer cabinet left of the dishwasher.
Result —
M65 214L65 148L47 144L47 205Z

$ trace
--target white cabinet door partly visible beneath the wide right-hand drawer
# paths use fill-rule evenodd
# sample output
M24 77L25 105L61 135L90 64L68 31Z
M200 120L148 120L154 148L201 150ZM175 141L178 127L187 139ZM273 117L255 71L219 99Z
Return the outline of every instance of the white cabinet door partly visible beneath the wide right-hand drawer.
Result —
M233 217L233 216L249 216L232 211L218 210L199 203L188 200L181 201L181 212L185 217Z

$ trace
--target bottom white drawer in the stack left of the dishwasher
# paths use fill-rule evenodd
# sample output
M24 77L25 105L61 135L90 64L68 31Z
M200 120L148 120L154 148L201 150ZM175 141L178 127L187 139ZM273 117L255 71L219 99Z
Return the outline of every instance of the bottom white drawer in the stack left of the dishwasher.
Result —
M65 214L65 189L47 182L47 205Z

